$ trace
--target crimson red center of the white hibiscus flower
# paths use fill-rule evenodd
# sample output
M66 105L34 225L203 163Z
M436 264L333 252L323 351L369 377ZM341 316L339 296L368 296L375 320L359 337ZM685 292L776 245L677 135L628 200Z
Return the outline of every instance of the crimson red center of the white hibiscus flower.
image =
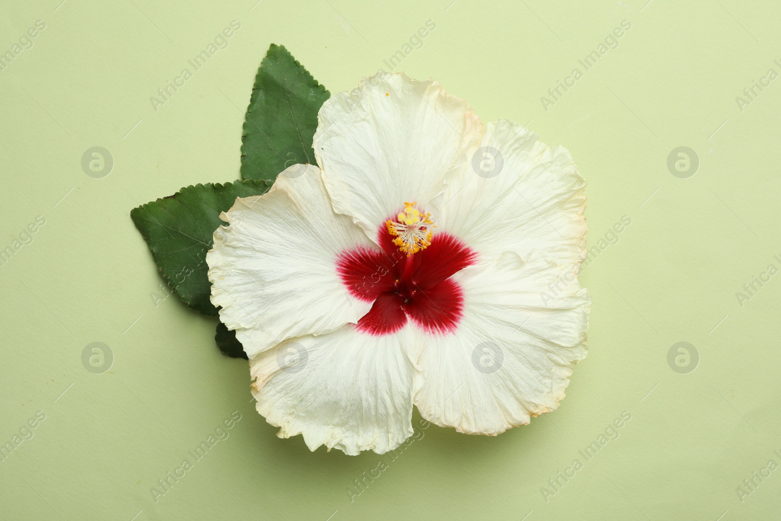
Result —
M373 302L358 320L358 330L391 334L412 320L433 334L455 330L462 317L461 286L451 277L476 261L477 255L447 233L434 234L431 245L408 257L393 243L385 227L377 234L380 248L342 252L337 273L350 293Z

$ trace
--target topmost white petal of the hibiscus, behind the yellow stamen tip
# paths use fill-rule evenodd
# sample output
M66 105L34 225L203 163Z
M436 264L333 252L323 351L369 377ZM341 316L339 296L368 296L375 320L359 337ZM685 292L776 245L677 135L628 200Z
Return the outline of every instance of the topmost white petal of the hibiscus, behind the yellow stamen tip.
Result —
M405 202L425 208L483 128L464 100L404 73L364 78L331 96L318 118L312 146L333 208L372 239Z

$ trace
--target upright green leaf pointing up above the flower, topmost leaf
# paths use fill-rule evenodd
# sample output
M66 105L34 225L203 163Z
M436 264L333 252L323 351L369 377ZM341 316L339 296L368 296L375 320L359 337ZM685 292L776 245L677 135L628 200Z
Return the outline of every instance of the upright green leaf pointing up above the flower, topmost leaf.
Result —
M312 136L330 92L282 45L260 64L241 136L241 177L273 181L297 163L316 165Z

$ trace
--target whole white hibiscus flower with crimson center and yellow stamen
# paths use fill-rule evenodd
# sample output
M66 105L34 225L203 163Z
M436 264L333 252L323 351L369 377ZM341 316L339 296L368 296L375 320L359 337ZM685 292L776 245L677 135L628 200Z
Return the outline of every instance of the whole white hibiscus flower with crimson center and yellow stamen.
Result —
M488 435L556 409L590 309L569 152L403 73L333 95L313 148L223 213L206 258L278 435L382 454L413 405Z

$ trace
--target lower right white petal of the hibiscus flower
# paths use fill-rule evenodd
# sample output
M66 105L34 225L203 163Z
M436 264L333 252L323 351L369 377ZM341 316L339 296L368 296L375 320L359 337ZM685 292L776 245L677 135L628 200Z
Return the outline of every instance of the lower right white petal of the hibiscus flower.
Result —
M590 298L574 274L507 253L455 278L464 292L455 333L417 334L420 414L462 433L496 435L556 409L587 352ZM546 307L542 292L559 281Z

